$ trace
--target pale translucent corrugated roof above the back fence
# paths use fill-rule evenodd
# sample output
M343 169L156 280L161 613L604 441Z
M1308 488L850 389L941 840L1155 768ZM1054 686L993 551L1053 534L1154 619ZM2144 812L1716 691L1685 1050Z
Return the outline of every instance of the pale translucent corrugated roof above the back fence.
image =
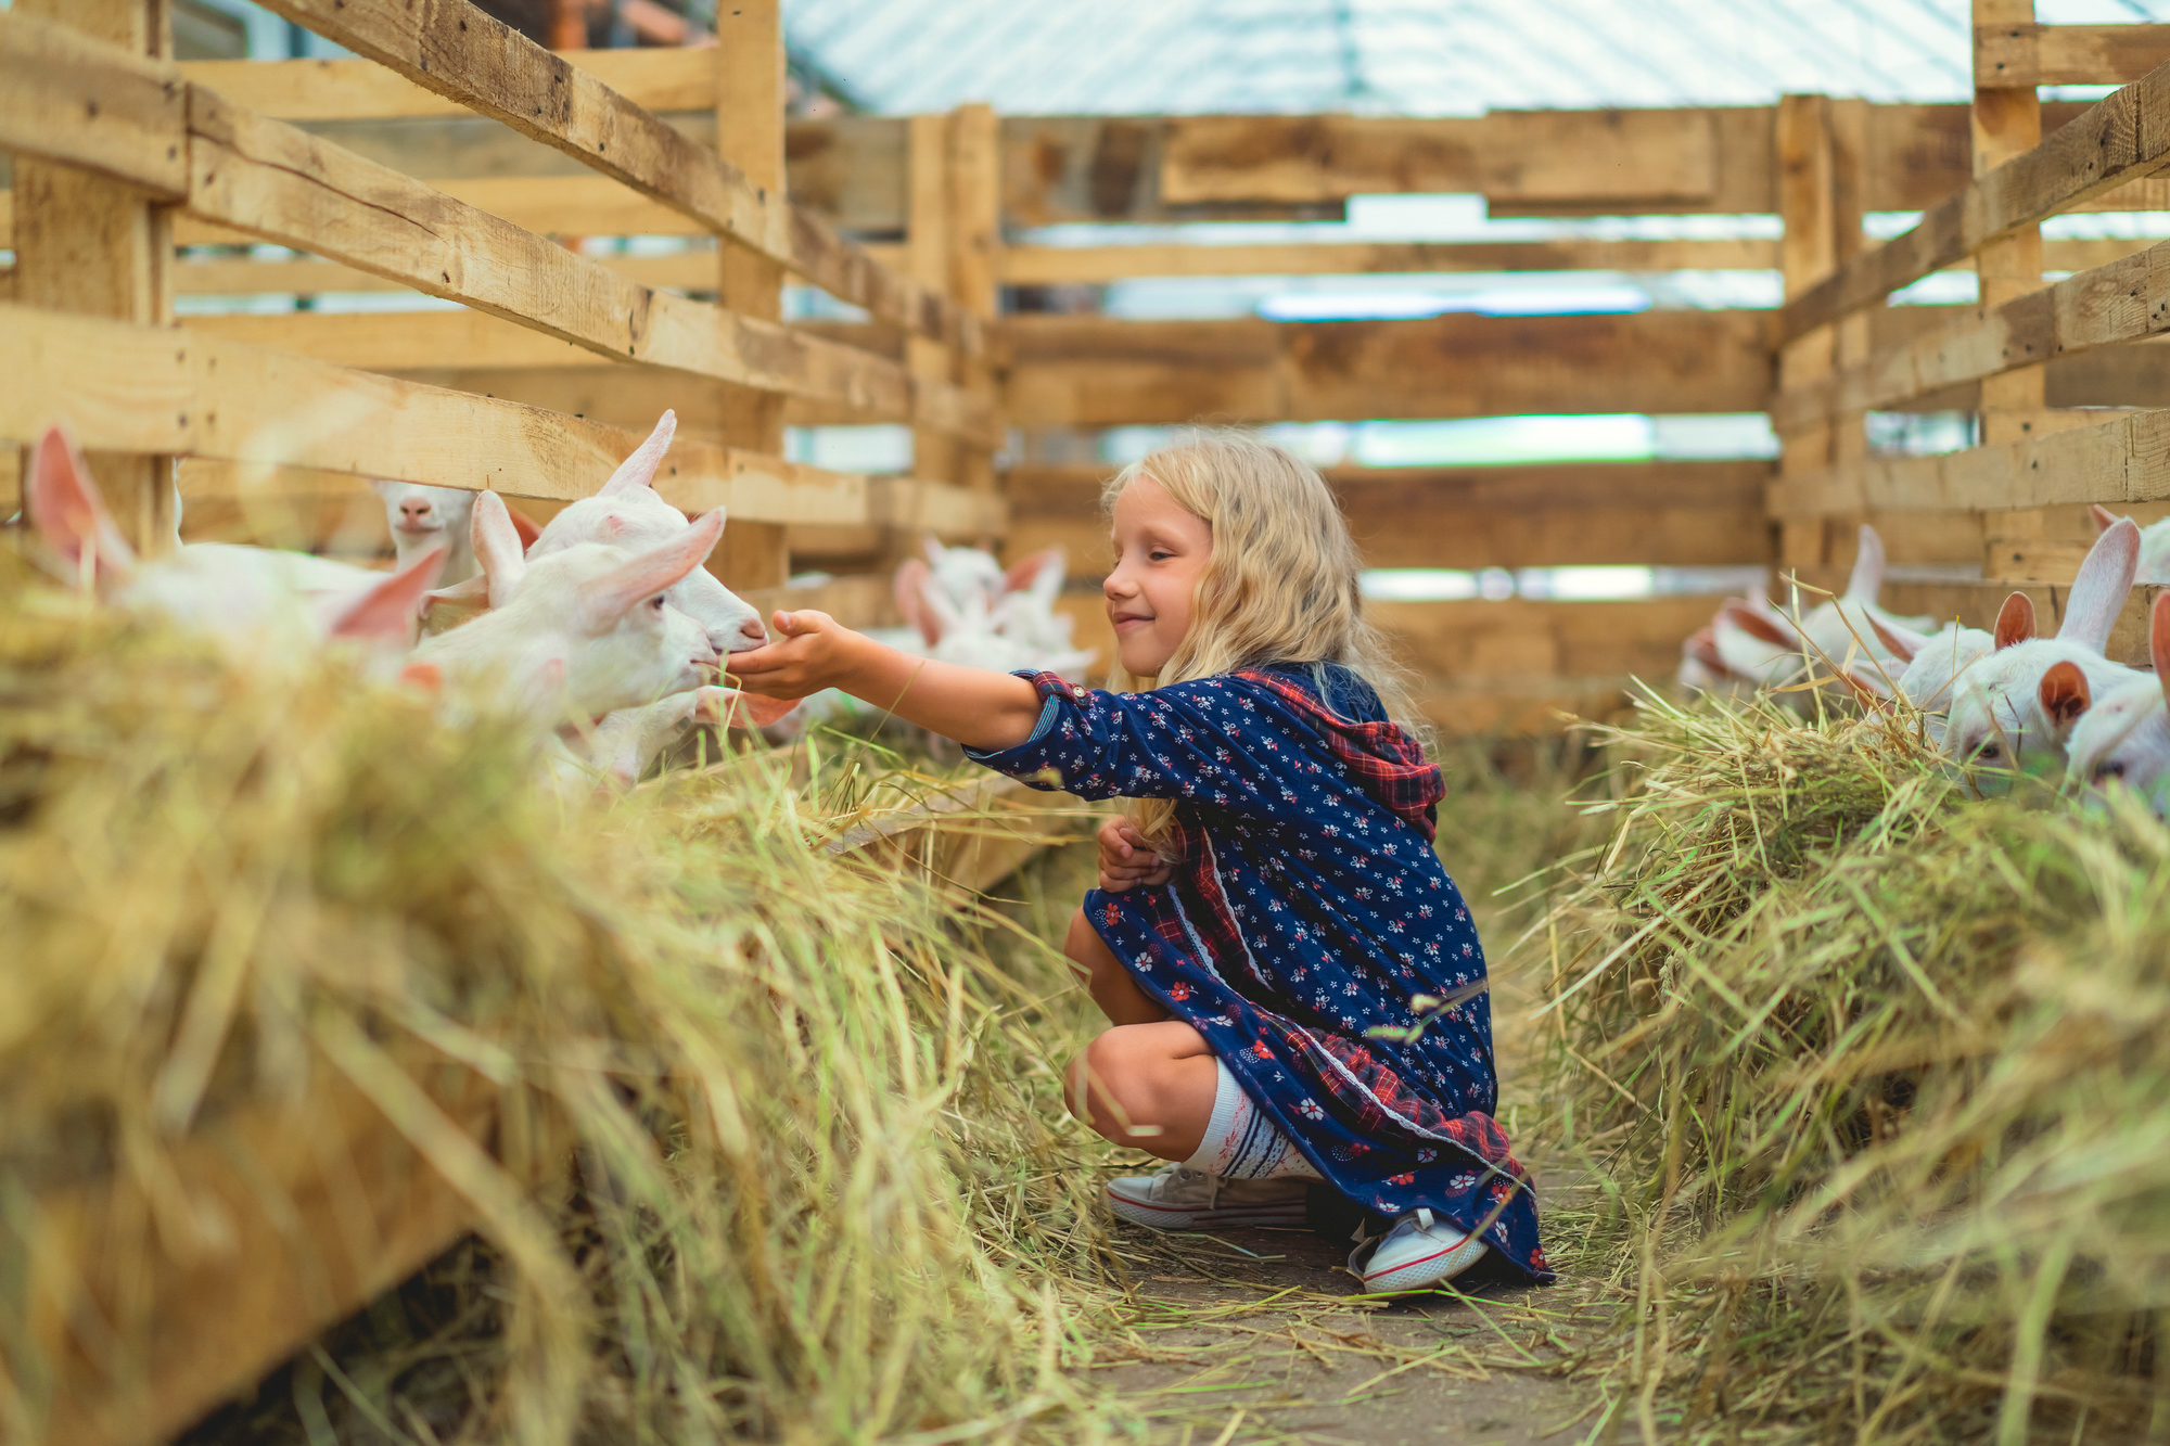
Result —
M1964 100L1966 0L786 0L801 63L872 111L1009 113ZM2042 0L2044 24L2170 0Z

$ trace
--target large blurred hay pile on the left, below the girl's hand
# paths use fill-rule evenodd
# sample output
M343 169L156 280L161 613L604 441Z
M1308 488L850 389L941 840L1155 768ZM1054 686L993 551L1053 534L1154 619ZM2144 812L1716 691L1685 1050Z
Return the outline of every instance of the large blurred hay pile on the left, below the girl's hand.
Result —
M141 1431L195 1335L245 1333L180 1329L215 1301L161 1270L310 1294L388 1248L391 1155L328 1099L475 1233L197 1439L1092 1435L1089 1179L1037 1038L1068 979L996 973L835 827L762 758L560 803L336 667L11 588L0 1435ZM336 1188L280 1196L289 1155ZM295 1259L304 1207L339 1259Z

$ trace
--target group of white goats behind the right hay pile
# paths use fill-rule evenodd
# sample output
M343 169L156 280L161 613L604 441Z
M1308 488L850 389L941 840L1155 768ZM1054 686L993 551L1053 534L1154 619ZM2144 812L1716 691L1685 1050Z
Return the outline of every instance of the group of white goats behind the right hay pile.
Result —
M1884 541L1862 528L1847 591L1786 617L1764 597L1732 597L1682 645L1680 684L1690 693L1769 693L1801 712L1829 695L1866 708L1905 699L1931 743L1996 792L2016 773L2053 775L2079 788L2124 786L2157 814L2170 801L2170 593L2148 627L2153 671L2111 662L2109 632L2133 582L2170 584L2170 521L2142 532L2133 519L2092 508L2101 530L2066 597L2057 636L2035 636L2033 601L2012 593L1994 632L1897 617L1877 606Z

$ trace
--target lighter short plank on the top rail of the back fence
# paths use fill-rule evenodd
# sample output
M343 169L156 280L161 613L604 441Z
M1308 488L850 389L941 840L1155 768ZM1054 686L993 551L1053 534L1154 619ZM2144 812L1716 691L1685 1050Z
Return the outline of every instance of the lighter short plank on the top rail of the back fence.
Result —
M1703 111L1493 111L1167 122L1161 195L1172 204L1413 191L1478 191L1526 206L1708 200L1716 191L1712 119Z

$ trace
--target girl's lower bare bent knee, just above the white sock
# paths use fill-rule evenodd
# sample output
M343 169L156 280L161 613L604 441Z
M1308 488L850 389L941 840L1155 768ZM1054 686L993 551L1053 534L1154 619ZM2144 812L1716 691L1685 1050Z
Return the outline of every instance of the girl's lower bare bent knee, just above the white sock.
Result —
M1070 1112L1115 1144L1189 1159L1213 1118L1217 1083L1213 1051L1183 1020L1115 1025L1070 1066Z

